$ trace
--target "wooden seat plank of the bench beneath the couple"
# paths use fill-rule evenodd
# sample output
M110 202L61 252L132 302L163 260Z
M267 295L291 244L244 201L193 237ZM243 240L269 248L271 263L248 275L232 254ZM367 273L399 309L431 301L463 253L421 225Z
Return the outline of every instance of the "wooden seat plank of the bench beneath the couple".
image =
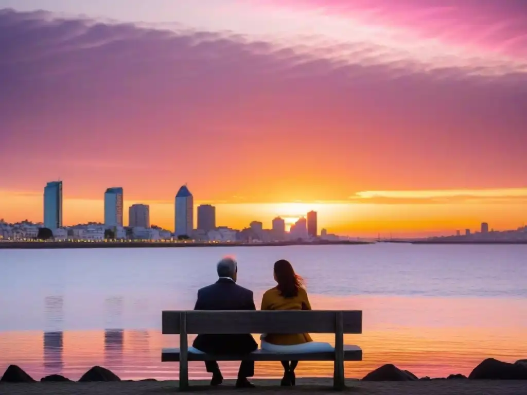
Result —
M300 352L285 353L256 350L243 355L212 355L188 353L189 361L334 361L335 352ZM362 361L362 349L358 345L344 345L345 361ZM161 354L162 362L178 362L179 348L164 348Z

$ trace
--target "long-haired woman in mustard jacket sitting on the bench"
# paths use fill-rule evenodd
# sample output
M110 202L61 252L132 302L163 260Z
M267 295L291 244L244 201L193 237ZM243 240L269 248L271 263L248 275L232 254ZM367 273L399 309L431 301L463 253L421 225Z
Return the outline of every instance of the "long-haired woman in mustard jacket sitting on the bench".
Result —
M311 310L305 283L285 259L275 262L274 277L278 285L264 293L261 310ZM261 349L271 352L324 352L334 351L329 343L314 342L309 333L262 334ZM284 378L281 386L295 385L298 361L281 361Z

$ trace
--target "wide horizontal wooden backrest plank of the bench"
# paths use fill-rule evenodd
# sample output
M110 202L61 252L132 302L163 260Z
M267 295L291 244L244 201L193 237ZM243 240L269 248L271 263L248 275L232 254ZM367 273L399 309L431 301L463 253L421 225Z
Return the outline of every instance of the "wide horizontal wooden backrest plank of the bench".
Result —
M163 311L162 327L163 334L362 333L362 311Z

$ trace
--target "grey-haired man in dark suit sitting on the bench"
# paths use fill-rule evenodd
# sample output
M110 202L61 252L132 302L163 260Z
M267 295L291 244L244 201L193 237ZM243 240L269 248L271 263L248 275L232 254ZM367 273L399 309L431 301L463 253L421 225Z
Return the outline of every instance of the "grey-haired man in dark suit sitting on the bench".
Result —
M235 260L222 259L218 263L218 281L198 291L198 300L194 310L256 310L252 291L236 284L237 273L238 265ZM248 354L258 349L258 344L251 334L200 334L192 346L204 353L217 355ZM212 373L211 386L221 384L223 376L218 362L206 361L205 366L207 372ZM255 387L247 380L254 374L255 363L242 361L236 387Z

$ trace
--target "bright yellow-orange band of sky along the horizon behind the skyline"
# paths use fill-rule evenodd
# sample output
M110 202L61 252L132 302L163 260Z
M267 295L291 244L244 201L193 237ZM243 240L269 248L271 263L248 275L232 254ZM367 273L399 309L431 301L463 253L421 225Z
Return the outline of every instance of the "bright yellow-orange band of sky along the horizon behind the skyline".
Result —
M365 192L357 200L337 202L206 202L216 206L217 224L243 229L251 221L261 221L264 228L271 228L271 221L281 216L286 229L310 210L318 212L318 228L330 233L351 236L452 234L456 230L480 228L488 222L491 229L516 229L525 224L521 215L527 212L527 193L519 190L501 190L489 194L466 191L460 200L460 191ZM367 197L366 197L367 196ZM381 197L382 196L382 197ZM440 202L431 201L439 196ZM390 201L385 199L389 198ZM449 200L451 199L451 200ZM523 200L525 199L525 200ZM150 205L150 223L173 230L174 206L171 201L127 200L125 191L124 224L128 224L128 207L134 203ZM37 193L0 192L0 218L8 222L28 219L42 221L42 195ZM63 201L64 225L102 222L102 199L70 199ZM196 223L196 214L194 214Z

